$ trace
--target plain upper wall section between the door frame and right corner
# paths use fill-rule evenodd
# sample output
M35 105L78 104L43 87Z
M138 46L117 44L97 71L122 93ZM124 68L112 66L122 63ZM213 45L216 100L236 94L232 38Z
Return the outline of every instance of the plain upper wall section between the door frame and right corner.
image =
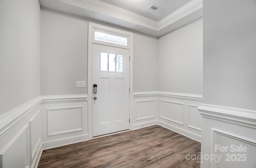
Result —
M158 39L133 34L133 91L157 91Z

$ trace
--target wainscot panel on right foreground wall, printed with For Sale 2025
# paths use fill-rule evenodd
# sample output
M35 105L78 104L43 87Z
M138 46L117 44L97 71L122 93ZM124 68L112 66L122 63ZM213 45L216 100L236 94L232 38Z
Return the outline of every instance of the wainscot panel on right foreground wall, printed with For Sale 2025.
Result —
M245 164L246 168L254 168L256 165L256 143L239 137L239 135L231 135L212 129L211 151L211 154L218 156L215 162L211 162L212 168L242 168Z

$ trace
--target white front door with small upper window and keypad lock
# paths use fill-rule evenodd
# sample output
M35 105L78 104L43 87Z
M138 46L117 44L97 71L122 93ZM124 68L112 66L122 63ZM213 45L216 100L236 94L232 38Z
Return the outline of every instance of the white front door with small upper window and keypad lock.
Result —
M93 136L129 129L128 49L105 45L92 46Z

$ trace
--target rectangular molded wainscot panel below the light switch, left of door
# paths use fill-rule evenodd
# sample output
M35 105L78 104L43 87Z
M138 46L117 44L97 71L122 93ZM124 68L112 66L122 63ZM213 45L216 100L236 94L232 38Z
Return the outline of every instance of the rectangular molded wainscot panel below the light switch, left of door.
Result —
M82 106L47 110L48 136L83 130Z

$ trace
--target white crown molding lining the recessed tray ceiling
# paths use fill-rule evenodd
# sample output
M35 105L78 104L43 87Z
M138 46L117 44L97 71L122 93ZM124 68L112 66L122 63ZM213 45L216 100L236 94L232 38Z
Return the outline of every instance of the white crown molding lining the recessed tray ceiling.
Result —
M120 20L135 23L155 31L159 31L203 7L202 0L192 0L166 18L160 21L154 21L122 8L101 2L99 0L60 0L60 2L84 8L86 10L91 10Z

